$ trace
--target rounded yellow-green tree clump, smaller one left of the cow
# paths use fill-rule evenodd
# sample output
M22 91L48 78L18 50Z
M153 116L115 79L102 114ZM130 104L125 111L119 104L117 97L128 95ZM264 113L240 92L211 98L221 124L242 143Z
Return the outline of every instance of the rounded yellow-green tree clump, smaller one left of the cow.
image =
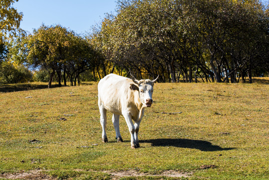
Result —
M26 37L17 38L12 45L12 58L49 72L48 87L55 78L58 85L79 84L79 74L90 69L93 48L89 42L60 25L41 25Z

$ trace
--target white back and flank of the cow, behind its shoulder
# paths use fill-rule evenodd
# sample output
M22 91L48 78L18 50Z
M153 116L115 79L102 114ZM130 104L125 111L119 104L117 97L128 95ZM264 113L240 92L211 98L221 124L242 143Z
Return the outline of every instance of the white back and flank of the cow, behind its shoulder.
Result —
M116 74L108 74L98 83L98 103L116 114L121 114L122 98L126 98L131 79Z

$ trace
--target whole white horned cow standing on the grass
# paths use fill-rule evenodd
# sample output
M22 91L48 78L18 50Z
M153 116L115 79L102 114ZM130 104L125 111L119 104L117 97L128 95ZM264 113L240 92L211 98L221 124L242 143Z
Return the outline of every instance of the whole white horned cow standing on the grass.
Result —
M123 141L119 130L119 117L123 115L131 133L131 147L139 147L139 125L145 107L150 107L153 102L153 85L158 77L155 80L136 80L116 74L108 74L99 81L98 106L101 114L103 142L107 142L106 111L108 110L113 113L112 121L117 141Z

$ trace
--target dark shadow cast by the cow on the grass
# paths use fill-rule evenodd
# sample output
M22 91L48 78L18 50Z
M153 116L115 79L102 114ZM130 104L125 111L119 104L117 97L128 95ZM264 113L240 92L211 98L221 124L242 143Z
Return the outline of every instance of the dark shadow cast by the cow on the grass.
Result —
M222 148L218 145L213 145L209 141L205 140L193 140L193 139L183 139L183 138L158 138L158 139L148 139L139 140L143 143L151 143L152 146L174 146L182 148L195 148L202 151L218 151L218 150L231 150L234 147Z

